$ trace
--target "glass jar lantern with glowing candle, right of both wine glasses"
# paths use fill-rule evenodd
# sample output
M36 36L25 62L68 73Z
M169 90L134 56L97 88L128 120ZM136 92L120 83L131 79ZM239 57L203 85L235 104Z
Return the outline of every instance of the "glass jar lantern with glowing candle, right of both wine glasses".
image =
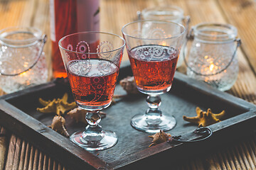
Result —
M229 24L201 23L191 28L190 36L193 43L186 62L188 77L220 91L230 89L238 77L237 29Z

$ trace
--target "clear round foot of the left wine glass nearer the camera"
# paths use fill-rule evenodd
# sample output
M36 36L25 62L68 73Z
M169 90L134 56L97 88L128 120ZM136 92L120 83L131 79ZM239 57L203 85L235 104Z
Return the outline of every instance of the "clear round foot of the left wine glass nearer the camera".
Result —
M87 141L82 138L83 131L75 132L70 136L70 140L76 145L86 149L87 151L98 151L113 147L117 144L117 135L110 130L102 131L104 136L101 140Z

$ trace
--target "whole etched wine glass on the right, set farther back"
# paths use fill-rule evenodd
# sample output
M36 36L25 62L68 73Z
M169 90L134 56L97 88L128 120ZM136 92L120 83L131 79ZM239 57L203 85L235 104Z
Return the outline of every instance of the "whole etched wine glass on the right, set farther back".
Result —
M171 21L142 20L122 28L137 88L148 95L146 113L134 115L131 121L137 130L167 131L176 125L173 115L159 109L159 95L171 89L185 33L184 26Z

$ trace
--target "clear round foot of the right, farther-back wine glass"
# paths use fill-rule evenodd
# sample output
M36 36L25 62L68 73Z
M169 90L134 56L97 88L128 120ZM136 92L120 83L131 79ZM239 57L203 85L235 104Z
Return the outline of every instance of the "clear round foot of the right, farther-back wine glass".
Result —
M176 119L172 115L146 115L137 114L131 120L131 125L137 130L144 132L159 132L160 130L168 131L176 126Z

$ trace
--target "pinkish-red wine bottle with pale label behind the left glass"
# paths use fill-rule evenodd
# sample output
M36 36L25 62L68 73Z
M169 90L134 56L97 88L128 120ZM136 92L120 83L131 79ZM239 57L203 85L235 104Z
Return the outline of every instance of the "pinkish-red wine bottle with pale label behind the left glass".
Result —
M100 0L50 0L53 77L67 77L58 41L65 35L100 30Z

